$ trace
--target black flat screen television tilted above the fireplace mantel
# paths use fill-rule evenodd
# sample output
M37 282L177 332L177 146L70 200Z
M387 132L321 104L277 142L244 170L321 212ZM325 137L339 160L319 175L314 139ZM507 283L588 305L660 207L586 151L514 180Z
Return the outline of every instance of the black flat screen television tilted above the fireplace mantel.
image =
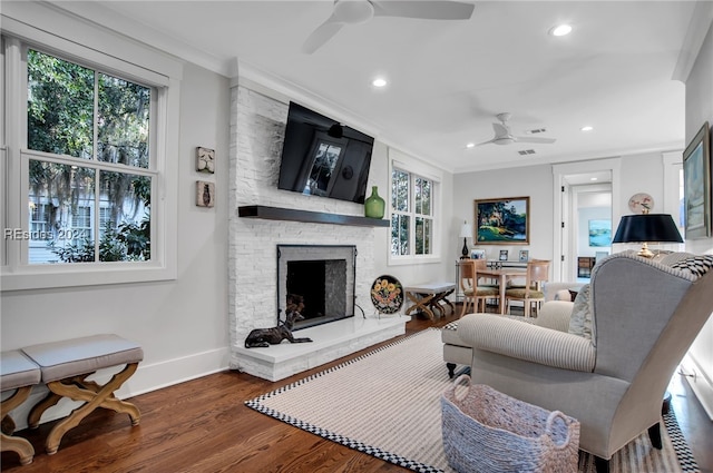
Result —
M364 203L374 139L290 102L277 187Z

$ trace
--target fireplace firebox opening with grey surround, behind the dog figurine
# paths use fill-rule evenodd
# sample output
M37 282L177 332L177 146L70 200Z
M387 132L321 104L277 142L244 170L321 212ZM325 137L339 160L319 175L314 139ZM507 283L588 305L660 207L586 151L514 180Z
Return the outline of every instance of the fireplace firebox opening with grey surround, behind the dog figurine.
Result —
M299 295L304 319L293 331L353 317L355 270L353 245L277 245L279 316L287 295Z

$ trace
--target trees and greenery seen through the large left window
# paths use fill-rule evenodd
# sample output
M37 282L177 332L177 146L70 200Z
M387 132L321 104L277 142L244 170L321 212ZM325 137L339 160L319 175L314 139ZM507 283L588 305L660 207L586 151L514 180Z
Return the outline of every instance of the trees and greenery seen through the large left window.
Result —
M27 53L30 264L150 259L152 88Z

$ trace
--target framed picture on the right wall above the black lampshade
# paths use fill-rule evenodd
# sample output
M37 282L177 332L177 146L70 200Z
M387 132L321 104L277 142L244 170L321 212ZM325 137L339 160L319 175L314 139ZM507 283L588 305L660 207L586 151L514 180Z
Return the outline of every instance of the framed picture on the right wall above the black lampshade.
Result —
M683 151L686 239L711 236L711 131L706 121Z

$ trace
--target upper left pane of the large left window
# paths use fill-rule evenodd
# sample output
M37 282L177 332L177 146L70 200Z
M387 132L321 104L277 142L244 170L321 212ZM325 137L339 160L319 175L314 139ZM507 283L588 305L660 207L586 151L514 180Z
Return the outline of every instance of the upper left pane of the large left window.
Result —
M28 51L28 147L91 158L94 71Z

